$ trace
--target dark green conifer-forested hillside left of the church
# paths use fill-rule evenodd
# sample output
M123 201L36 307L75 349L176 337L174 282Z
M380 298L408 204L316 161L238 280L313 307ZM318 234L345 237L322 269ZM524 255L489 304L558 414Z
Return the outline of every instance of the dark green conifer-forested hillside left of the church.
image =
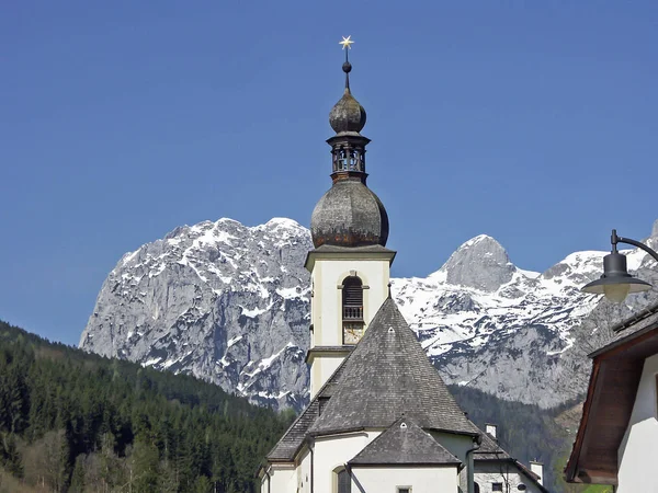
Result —
M0 322L0 492L253 492L291 419Z

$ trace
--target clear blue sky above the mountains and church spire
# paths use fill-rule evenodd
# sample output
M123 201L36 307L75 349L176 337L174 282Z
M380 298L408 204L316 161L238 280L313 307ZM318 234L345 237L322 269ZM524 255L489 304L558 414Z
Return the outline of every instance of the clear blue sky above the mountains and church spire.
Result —
M658 2L9 1L0 319L77 343L174 227L309 223L355 39L396 276L488 233L522 268L658 218Z

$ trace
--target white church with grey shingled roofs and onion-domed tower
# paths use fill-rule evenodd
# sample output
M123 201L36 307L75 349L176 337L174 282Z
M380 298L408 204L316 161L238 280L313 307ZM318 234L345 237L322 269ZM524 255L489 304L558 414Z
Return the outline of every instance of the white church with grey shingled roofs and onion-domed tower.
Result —
M350 90L329 123L331 188L311 216L310 403L268 454L263 493L547 492L460 409L390 297L388 216L366 185L365 111Z

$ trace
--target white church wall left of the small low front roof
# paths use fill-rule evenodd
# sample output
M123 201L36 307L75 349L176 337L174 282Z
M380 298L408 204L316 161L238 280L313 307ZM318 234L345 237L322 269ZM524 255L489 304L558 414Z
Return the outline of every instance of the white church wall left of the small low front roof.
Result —
M381 433L379 431L370 431L316 438L313 466L314 493L333 493L336 481L333 471L344 467Z

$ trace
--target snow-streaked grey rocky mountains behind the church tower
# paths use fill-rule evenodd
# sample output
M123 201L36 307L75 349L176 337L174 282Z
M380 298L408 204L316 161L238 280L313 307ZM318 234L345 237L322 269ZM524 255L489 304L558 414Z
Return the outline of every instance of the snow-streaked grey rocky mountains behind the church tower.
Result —
M649 241L658 246L658 221ZM120 260L80 347L298 409L308 398L303 264L311 248L308 230L291 219L177 228ZM592 332L625 313L579 290L600 275L605 253L572 253L540 274L479 236L428 277L393 279L393 294L447 382L549 406L583 390ZM627 253L629 268L655 275L644 252ZM634 308L654 295L635 298Z

